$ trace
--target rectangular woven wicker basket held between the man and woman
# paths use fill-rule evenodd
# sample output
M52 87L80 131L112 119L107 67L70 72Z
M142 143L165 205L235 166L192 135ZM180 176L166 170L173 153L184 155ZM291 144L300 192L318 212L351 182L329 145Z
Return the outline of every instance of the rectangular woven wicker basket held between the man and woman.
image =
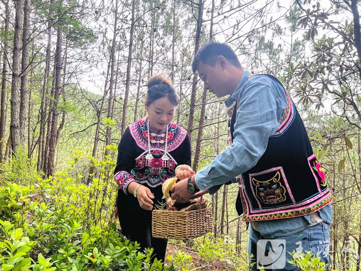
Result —
M212 230L211 208L189 212L153 210L152 235L156 238L186 240Z

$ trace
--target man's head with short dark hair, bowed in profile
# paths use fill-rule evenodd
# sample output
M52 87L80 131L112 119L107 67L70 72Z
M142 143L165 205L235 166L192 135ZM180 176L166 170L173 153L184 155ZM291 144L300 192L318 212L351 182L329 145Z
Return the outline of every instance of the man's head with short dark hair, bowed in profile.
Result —
M208 90L223 97L232 94L243 69L237 55L225 43L209 42L196 54L192 69L198 71Z

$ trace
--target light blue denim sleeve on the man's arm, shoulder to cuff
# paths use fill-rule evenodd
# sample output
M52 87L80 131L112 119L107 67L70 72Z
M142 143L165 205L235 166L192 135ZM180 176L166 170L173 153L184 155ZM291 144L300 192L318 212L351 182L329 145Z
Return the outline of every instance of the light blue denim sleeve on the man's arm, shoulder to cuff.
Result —
M266 151L286 106L281 84L268 78L247 82L239 96L233 143L196 174L199 189L214 194L221 185L254 167Z

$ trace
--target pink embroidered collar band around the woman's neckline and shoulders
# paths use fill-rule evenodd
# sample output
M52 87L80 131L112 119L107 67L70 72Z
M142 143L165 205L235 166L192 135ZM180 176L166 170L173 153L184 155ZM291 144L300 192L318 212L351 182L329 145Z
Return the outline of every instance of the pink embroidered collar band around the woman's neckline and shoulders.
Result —
M143 150L148 149L148 131L146 126L146 119L147 118L144 117L129 125L130 134L132 135L136 145ZM170 122L168 125L167 152L171 152L178 148L180 144L182 144L186 139L186 137L187 131L183 127ZM164 143L155 140L155 137L152 133L149 134L149 139L150 147L152 149L162 149L165 147Z

